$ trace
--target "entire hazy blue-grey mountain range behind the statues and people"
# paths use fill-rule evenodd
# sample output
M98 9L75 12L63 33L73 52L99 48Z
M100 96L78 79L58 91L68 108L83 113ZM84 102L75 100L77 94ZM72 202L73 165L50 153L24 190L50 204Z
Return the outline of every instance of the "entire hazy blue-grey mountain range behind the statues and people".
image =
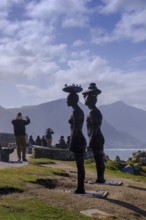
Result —
M84 111L85 118L88 108L79 103ZM129 106L121 101L99 107L103 115L102 132L105 137L105 148L145 148L146 146L146 112ZM0 132L13 133L11 120L18 112L23 117L29 116L31 124L26 127L28 135L35 139L37 135L44 135L46 128L54 131L53 144L58 143L61 135L67 138L70 135L68 119L72 108L66 104L66 99L23 106L21 108L0 107ZM87 139L86 121L83 133Z

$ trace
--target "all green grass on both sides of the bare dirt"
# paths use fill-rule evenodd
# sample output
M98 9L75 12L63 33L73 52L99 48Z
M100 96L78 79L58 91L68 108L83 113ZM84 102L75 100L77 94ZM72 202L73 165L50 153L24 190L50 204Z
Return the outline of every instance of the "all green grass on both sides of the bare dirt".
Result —
M90 201L86 204L79 198L79 203L76 204L76 197L62 192L64 188L66 189L66 187L68 187L68 189L70 189L76 185L76 177L72 177L72 179L66 178L69 177L69 174L64 168L61 169L59 167L59 169L57 169L54 168L54 166L47 166L59 162L61 164L70 165L71 167L76 167L75 161L55 162L49 159L31 159L31 163L27 166L1 169L0 219L93 219L79 212L79 210L84 210L85 206L86 208L95 208L93 204L90 205ZM111 163L107 166L105 174L146 182L145 177L120 172L118 166L116 163ZM85 160L85 168L93 173L96 172L95 163L92 160Z

